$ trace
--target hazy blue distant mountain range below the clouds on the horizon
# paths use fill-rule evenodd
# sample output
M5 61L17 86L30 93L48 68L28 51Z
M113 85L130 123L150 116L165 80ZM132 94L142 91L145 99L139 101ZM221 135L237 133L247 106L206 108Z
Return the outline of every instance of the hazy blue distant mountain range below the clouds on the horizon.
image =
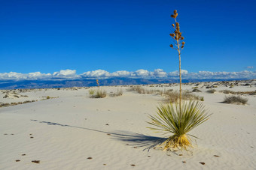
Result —
M234 79L229 79L234 80ZM216 82L227 79L183 79L182 82ZM163 83L178 83L178 79L132 79L110 78L99 79L100 85L150 85ZM0 89L17 88L71 88L96 86L96 79L50 79L50 80L22 80L0 81Z

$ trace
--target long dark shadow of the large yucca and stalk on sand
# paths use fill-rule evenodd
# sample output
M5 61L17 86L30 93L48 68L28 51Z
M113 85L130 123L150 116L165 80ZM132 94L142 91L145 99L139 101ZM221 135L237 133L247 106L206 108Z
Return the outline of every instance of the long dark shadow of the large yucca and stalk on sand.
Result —
M156 136L145 136L143 134L131 133L127 131L106 132L102 130L93 130L87 127L75 127L68 124L58 124L50 121L38 121L38 120L31 120L31 121L35 121L41 124L56 125L61 127L73 127L73 128L83 129L83 130L92 130L99 133L106 133L108 135L111 135L112 139L126 142L126 145L130 145L136 148L144 148L143 151L145 150L149 151L151 148L157 147L157 145L160 145L161 143L166 141L166 138L160 138Z

